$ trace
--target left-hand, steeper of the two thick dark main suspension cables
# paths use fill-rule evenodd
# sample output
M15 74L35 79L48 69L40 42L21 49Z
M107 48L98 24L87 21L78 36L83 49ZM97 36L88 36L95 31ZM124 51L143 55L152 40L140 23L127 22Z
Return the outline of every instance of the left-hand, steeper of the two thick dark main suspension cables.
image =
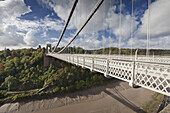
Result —
M64 32L65 32L65 30L66 30L66 28L67 28L67 26L68 26L68 23L69 23L72 15L73 15L74 9L76 8L77 2L78 2L78 0L74 0L74 3L73 3L73 6L72 6L72 8L71 8L70 14L69 14L69 16L68 16L67 22L65 23L64 29L63 29L63 31L62 31L62 33L61 33L61 35L60 35L60 38L59 38L59 40L58 40L58 42L57 42L57 45L55 46L55 48L54 48L54 50L53 50L52 52L54 52L54 51L56 50L56 48L58 47L58 45L60 44L60 41L61 41L61 39L62 39L62 37L63 37L63 35L64 35Z

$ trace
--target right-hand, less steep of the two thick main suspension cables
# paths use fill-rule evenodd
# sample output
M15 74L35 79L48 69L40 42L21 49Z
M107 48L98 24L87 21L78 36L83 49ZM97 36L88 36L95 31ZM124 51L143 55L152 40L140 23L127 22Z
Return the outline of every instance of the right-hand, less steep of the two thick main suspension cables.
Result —
M73 40L77 37L77 35L83 30L83 28L86 26L86 24L89 22L89 20L93 17L93 15L95 14L95 12L98 10L98 8L100 7L100 5L103 3L104 0L99 0L94 9L91 11L91 13L89 14L87 20L84 22L84 24L81 26L81 28L76 32L76 34L73 36L73 38L70 40L70 42L63 48L61 49L59 52L57 53L61 53L62 51L64 51L72 42Z

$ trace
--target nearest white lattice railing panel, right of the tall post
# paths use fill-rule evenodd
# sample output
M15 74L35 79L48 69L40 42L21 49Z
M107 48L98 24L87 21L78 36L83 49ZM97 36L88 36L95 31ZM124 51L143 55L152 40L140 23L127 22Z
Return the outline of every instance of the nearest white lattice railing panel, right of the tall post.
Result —
M170 95L170 65L137 62L136 85Z

